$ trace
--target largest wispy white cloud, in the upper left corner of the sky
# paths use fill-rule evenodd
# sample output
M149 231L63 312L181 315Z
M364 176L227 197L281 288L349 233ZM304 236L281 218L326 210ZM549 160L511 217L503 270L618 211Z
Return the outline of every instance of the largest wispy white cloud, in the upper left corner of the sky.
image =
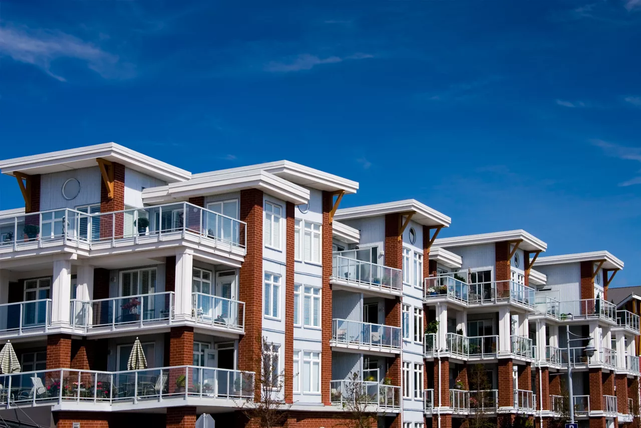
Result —
M0 51L17 62L35 65L59 81L67 81L51 70L60 58L72 58L87 63L105 79L127 79L135 76L132 64L121 61L118 55L103 51L90 42L51 29L31 29L11 24L0 28Z

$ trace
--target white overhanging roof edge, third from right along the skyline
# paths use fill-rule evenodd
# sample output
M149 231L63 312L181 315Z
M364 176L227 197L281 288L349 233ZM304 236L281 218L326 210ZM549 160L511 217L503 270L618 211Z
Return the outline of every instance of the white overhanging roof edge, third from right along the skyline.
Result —
M341 208L336 211L334 218L336 220L352 220L354 218L410 212L414 213L412 220L423 226L449 227L452 222L452 219L447 217L447 215L433 208L429 208L429 206L422 204L416 199L386 202L385 204L363 205L353 208Z

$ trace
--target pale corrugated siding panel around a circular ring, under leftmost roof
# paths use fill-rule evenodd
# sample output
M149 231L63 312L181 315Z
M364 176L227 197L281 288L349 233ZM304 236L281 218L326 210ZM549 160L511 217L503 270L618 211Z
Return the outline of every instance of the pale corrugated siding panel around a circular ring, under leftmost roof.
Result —
M62 186L68 179L75 178L80 183L80 192L74 199L62 196ZM100 203L100 169L81 168L40 176L40 211L58 208L76 208L81 205Z

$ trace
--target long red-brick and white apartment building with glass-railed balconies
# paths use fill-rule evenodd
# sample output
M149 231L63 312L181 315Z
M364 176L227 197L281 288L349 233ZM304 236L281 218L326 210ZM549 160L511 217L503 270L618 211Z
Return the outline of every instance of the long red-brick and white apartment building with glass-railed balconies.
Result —
M639 322L608 303L623 267L608 252L539 257L522 230L438 238L447 215L339 208L358 183L289 161L192 174L110 143L0 170L25 202L0 212L0 343L21 365L0 375L2 418L255 425L238 407L267 364L288 427L346 423L354 385L381 428L479 411L547 427L568 367L579 424L631 421ZM147 368L127 370L137 339Z

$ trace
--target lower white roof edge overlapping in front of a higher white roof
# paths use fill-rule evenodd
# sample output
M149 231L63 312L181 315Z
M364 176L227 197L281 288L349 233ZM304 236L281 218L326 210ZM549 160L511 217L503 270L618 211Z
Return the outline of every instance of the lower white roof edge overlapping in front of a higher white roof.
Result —
M145 204L185 201L190 197L238 192L257 188L293 204L307 204L310 191L294 183L261 170L198 177L167 186L146 188L142 191Z

